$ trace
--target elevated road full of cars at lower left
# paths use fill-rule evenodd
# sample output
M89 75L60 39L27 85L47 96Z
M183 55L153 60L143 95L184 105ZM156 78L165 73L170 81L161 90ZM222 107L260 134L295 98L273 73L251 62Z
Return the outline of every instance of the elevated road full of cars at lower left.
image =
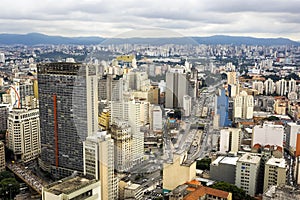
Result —
M12 171L16 176L23 180L29 187L35 190L38 194L42 195L42 188L47 183L41 178L34 175L30 170L17 163L6 163L6 167Z

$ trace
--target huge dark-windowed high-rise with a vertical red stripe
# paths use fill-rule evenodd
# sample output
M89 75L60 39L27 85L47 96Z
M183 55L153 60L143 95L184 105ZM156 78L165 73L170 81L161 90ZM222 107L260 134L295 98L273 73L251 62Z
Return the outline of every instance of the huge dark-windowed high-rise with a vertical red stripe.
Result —
M83 141L98 131L97 68L38 65L42 152L39 164L54 177L83 172Z

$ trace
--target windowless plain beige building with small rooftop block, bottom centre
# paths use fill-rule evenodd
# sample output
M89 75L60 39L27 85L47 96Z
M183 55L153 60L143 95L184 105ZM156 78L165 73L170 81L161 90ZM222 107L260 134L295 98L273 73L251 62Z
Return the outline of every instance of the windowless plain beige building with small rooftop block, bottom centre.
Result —
M185 164L184 157L174 154L173 163L164 164L163 188L165 190L174 190L178 185L182 185L196 177L196 162Z

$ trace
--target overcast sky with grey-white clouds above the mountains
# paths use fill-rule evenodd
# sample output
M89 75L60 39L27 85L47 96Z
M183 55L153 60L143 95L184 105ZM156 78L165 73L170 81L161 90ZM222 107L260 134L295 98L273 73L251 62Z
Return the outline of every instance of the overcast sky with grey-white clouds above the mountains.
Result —
M300 0L1 0L0 5L0 33L112 37L162 28L185 36L300 41Z

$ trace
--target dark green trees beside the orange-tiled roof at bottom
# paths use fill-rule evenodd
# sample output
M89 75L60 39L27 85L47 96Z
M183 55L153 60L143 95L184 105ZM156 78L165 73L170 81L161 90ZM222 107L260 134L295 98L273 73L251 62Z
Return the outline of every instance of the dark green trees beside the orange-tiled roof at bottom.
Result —
M253 197L247 195L241 188L226 182L217 182L211 186L214 189L223 190L232 193L233 200L254 200Z

